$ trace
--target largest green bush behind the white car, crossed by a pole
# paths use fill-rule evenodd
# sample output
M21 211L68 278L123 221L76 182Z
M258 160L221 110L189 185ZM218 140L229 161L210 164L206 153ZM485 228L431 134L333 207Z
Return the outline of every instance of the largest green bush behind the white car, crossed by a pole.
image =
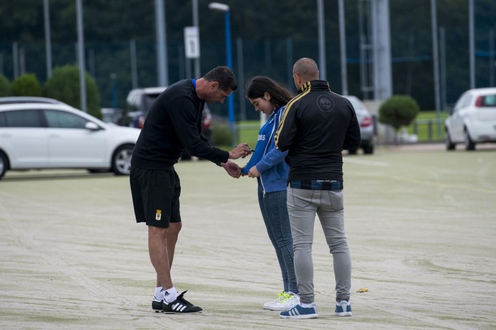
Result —
M45 83L44 92L47 97L52 97L75 108L80 108L79 68L76 65L55 68L52 76ZM94 79L88 73L86 73L86 102L88 113L101 118L98 88Z

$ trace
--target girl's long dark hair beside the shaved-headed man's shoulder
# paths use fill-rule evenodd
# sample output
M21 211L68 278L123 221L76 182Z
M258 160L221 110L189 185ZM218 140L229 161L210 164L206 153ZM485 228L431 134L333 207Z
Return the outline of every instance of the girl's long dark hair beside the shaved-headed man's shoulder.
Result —
M270 94L270 103L276 108L286 105L294 97L293 93L286 87L276 83L269 77L253 77L246 85L247 98L263 97L263 93L265 92Z

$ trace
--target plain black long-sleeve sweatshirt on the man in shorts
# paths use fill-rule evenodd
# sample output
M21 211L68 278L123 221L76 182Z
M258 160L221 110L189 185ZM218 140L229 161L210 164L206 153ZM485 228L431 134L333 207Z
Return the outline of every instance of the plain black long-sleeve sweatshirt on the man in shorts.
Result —
M131 164L151 170L171 169L184 149L216 164L227 162L229 152L213 147L201 133L204 105L191 79L167 88L148 111Z

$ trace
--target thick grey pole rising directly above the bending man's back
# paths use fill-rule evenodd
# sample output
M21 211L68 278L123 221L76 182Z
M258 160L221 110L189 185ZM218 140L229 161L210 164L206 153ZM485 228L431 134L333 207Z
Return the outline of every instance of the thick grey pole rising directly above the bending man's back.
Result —
M159 86L168 86L165 0L155 0L155 39L157 44L157 76Z

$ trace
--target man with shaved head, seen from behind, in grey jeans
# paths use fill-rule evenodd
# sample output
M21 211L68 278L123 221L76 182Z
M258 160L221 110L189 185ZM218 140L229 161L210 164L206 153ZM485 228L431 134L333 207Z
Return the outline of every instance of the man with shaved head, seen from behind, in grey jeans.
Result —
M289 150L288 213L300 305L282 318L316 318L311 244L317 213L334 260L336 315L351 316L351 257L344 231L343 149L360 145L360 126L346 98L332 93L310 58L293 68L299 95L286 105L276 147Z

